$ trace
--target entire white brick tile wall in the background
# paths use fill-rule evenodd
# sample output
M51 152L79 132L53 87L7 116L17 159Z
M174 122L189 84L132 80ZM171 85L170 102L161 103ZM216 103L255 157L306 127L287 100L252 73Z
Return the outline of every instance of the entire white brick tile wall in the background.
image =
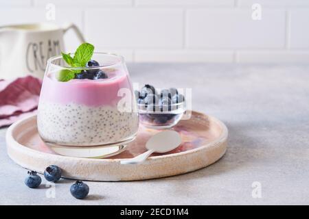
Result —
M34 22L76 23L96 51L127 62L309 63L309 0L0 0L0 25ZM79 44L73 31L65 42Z

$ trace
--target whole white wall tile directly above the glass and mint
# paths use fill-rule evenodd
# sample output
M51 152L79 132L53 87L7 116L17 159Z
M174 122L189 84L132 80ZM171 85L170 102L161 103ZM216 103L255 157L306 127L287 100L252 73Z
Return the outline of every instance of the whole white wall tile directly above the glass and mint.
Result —
M85 31L91 42L113 48L180 48L181 10L87 10Z

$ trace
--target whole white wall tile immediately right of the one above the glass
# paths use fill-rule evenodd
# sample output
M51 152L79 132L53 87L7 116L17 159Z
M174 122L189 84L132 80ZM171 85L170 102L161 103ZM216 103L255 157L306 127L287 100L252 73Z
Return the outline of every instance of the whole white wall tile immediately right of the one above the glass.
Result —
M264 10L254 21L251 10L188 10L186 46L190 48L283 48L283 10Z

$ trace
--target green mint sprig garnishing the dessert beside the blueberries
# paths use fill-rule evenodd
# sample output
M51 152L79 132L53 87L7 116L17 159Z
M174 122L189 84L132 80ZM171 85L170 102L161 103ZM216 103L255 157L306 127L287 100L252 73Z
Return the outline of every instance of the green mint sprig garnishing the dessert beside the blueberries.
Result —
M93 55L94 47L92 44L85 42L80 44L74 56L71 57L71 53L61 53L63 60L69 64L71 67L85 67L87 62L91 60ZM58 74L58 81L69 81L74 79L75 74L80 73L80 70L61 70Z

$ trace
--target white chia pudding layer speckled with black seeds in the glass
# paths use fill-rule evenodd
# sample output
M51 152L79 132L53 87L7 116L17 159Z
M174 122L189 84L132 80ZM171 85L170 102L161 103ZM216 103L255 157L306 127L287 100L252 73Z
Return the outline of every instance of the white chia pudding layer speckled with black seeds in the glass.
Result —
M136 112L119 112L117 106L40 102L37 123L38 132L46 142L90 146L134 138L139 117Z

